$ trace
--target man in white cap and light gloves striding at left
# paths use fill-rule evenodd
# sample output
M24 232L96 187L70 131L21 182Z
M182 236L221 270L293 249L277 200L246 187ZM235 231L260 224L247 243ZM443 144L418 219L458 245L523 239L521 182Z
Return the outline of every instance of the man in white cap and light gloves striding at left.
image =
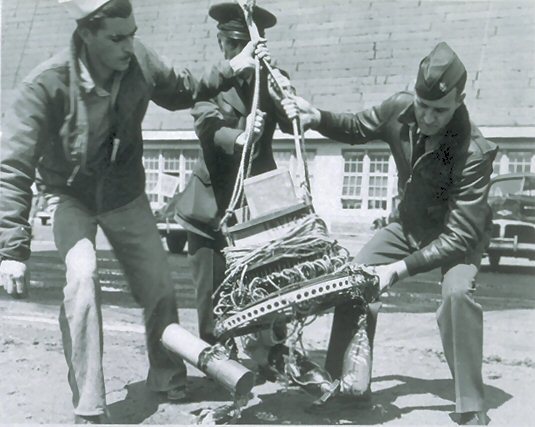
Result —
M98 226L144 309L147 386L169 399L185 397L186 367L160 343L162 331L178 318L167 256L144 190L141 122L147 105L152 100L169 110L184 109L229 89L239 73L254 66L254 47L198 79L187 69L173 70L135 38L129 0L59 3L77 23L70 46L24 79L4 121L0 279L9 294L25 294L37 169L45 191L59 199L54 240L66 268L60 326L75 421L100 422L106 393ZM265 46L257 53L267 55Z

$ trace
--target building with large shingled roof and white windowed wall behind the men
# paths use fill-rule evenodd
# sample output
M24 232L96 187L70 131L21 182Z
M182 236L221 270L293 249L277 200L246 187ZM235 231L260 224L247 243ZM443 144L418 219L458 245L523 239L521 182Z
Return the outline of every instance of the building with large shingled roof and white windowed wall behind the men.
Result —
M221 57L204 0L132 0L138 34L176 67L194 73ZM466 104L483 134L500 145L495 173L535 172L535 2L532 0L258 0L278 24L273 58L299 94L318 107L359 111L411 90L419 60L447 41L468 70ZM2 3L2 111L20 80L67 46L74 23L56 0ZM2 114L3 116L3 114ZM161 202L161 172L183 188L199 145L188 111L154 105L144 122L147 190ZM291 136L276 134L279 167L292 167ZM307 133L316 210L333 227L386 215L396 170L386 145L352 147Z

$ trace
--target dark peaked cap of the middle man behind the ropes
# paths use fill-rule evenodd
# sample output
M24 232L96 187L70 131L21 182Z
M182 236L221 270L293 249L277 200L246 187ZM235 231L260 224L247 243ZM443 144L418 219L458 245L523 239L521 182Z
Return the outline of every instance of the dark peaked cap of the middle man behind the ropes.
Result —
M232 39L250 40L243 11L237 3L214 4L208 14L218 22L217 28L220 34ZM277 23L275 15L256 5L253 8L253 20L261 36L264 35L266 28L273 27Z

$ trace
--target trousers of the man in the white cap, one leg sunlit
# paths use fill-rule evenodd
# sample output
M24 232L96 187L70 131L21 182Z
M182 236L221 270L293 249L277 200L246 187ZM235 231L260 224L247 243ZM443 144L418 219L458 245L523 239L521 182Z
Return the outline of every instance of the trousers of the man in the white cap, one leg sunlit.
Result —
M95 247L98 226L113 248L134 299L144 309L150 364L147 386L167 391L186 382L184 362L160 342L165 327L178 322L178 312L167 254L147 196L95 215L77 199L59 195L53 232L66 269L59 322L74 413L83 416L101 415L106 410L102 290ZM124 351L128 358L128 349Z

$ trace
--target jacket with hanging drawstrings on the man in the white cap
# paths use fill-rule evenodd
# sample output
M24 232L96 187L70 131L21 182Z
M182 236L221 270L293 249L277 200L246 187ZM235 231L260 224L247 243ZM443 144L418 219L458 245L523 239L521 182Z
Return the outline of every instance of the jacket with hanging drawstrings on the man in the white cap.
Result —
M87 158L95 124L87 122L80 87L81 47L75 33L69 49L34 69L4 118L0 261L23 261L30 255L28 214L36 169L46 192L76 197L95 214L124 206L145 187L141 123L149 101L169 110L189 108L228 89L234 76L228 61L214 65L199 80L187 69L177 73L136 39L113 108L109 141Z

